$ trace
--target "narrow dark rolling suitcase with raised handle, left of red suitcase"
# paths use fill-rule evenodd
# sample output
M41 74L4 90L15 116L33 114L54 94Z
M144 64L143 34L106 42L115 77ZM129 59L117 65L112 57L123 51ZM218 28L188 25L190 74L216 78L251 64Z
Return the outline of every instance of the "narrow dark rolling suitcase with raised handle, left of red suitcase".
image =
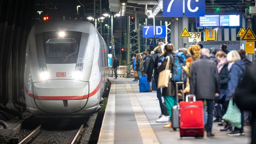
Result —
M175 82L176 83L176 100L177 105L174 105L171 107L171 127L173 130L176 130L176 128L179 128L179 104L178 104L178 84L182 85L182 90L184 90L184 82ZM184 93L182 92L182 100L184 101Z

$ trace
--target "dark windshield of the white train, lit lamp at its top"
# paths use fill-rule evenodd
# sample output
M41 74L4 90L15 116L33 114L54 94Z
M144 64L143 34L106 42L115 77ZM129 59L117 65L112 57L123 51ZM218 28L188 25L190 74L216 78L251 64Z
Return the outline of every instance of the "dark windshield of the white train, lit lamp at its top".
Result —
M82 32L78 31L38 33L36 34L36 43L39 44L42 40L44 54L40 50L37 54L40 55L40 58L44 57L46 63L76 63L81 35Z

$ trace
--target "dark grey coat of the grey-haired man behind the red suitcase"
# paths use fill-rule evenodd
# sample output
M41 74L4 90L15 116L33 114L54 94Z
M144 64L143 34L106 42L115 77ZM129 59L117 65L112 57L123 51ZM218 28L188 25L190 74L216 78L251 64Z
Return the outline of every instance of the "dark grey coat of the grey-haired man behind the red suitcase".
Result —
M220 84L214 61L207 56L201 56L190 66L190 93L195 94L196 99L215 99L215 93L219 93Z

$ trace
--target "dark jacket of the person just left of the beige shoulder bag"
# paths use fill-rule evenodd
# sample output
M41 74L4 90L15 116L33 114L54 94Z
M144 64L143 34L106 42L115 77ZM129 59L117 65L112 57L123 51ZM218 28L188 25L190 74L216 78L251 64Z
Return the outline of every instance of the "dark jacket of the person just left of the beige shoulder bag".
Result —
M157 63L158 58L161 54L161 49L157 49L154 54L151 55L151 60L147 69L147 81L151 81L152 79L152 73L154 71L154 79L158 79L158 73L157 73Z

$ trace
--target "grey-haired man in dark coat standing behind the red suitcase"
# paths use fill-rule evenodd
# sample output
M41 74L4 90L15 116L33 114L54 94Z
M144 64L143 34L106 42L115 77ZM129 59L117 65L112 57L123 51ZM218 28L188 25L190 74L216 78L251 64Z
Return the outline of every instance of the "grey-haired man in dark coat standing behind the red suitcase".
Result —
M209 59L209 49L202 48L200 59L195 60L191 66L190 93L192 96L195 95L197 100L206 99L206 132L207 136L214 136L211 133L213 100L218 96L220 84L216 64Z

